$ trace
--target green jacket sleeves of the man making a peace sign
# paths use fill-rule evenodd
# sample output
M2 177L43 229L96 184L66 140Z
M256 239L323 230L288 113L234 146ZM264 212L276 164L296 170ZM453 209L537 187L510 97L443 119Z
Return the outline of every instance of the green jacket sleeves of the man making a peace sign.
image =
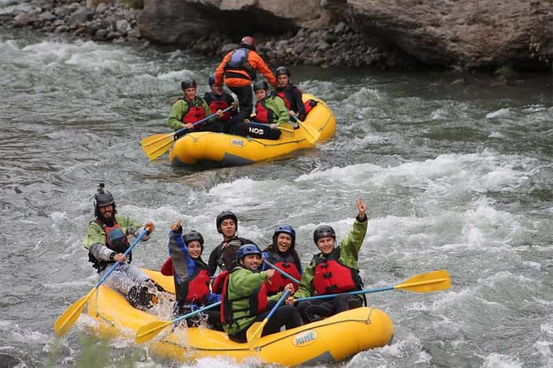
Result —
M359 249L367 234L368 221L360 222L357 218L353 222L353 229L349 232L348 236L340 243L340 262L344 265L355 268L358 270L359 266L357 260L359 258ZM319 258L324 258L322 253L317 254ZM294 297L296 299L304 297L312 297L315 295L315 288L313 287L313 277L315 276L315 260L311 261L308 268L306 268L304 275L299 281L299 289L295 292Z

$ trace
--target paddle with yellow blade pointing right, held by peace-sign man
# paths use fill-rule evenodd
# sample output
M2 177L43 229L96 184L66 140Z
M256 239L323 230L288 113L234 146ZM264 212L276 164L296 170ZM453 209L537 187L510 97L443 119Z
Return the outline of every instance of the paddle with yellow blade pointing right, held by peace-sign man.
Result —
M425 274L416 274L410 279L403 281L398 285L386 286L384 288L376 289L364 289L351 292L342 292L341 294L369 294L370 292L380 292L394 289L409 290L412 292L432 292L439 290L447 290L451 287L451 280L449 278L449 273L446 270L437 270L432 272L427 272ZM339 294L326 294L326 295L315 295L315 297L305 297L298 298L296 301L304 300L313 300L313 299L325 299L333 298Z

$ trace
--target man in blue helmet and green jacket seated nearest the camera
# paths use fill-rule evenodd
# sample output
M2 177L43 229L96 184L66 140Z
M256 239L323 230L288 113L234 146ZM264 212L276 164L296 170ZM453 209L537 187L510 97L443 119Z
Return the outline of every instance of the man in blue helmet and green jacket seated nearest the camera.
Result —
M274 270L259 272L263 261L261 249L255 244L242 245L236 253L238 266L227 276L222 292L223 328L229 338L236 342L246 341L246 332L254 322L267 317L272 307L282 296L267 297L265 281L274 276ZM284 290L294 290L292 283ZM301 318L293 306L279 306L271 319L265 324L261 336L279 332L281 326L286 329L301 325Z

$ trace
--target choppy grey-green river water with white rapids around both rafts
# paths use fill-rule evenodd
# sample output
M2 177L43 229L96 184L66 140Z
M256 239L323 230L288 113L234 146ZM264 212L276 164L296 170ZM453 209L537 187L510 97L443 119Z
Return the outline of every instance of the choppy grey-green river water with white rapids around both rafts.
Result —
M181 366L90 338L83 318L55 339L56 317L96 281L82 238L105 182L120 213L157 223L134 262L158 269L171 222L201 231L208 252L227 209L261 245L290 223L306 264L313 229L326 223L343 238L362 197L365 286L445 268L452 288L369 295L394 321L394 342L335 366L553 367L551 75L501 86L462 73L292 67L293 81L333 109L331 141L238 168L148 161L139 142L170 131L179 81L206 90L218 61L0 28L0 353L26 367ZM243 367L184 367L222 365Z

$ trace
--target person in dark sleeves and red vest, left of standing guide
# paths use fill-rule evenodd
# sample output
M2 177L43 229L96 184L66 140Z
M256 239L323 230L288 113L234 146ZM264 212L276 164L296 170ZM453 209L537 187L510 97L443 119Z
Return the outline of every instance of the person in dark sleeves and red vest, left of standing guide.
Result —
M238 119L238 104L227 91L222 89L222 85L218 85L215 82L215 74L209 76L209 88L211 91L204 94L204 100L207 102L211 114L218 110L224 110L229 106L233 106L234 109L224 112L220 118L218 117L213 123L206 125L204 130L217 133L230 133L231 128L236 124L236 120Z

